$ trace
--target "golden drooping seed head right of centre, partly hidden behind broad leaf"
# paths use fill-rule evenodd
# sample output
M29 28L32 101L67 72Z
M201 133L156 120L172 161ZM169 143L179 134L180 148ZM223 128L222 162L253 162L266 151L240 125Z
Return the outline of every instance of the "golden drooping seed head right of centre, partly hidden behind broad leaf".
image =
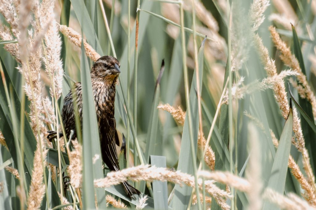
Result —
M177 122L179 122L182 126L184 125L185 112L181 109L180 106L178 106L178 109L175 109L173 106L171 106L169 104L164 104L164 105L160 104L157 106L157 109L162 109L162 110L169 112L172 115L173 119L175 119ZM201 145L203 145L203 149L205 148L206 140L205 140L205 137L203 134L200 135L200 133L198 133L197 145L198 145L198 148L201 148ZM208 165L210 167L211 170L214 170L215 154L209 145L207 145L207 148L206 148L204 161L205 161L206 165Z

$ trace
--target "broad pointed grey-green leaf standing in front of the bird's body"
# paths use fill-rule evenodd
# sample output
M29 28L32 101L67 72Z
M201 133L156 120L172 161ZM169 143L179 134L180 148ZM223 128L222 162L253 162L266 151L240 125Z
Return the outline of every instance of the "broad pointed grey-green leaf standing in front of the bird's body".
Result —
M102 163L100 158L93 164L94 155L101 156L99 129L95 113L94 98L90 77L88 59L81 47L81 85L82 85L82 149L83 149L83 207L94 209L94 179L103 178ZM92 173L92 176L91 176ZM100 208L106 208L105 192L95 189L96 199Z

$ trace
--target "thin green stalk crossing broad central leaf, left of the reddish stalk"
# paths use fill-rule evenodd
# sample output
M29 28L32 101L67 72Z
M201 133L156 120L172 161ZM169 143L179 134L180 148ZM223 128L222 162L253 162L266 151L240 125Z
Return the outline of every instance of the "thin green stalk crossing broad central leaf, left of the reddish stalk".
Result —
M188 116L189 123L189 135L190 135L190 145L191 145L191 157L192 157L192 165L193 165L193 173L194 173L194 182L195 182L195 191L197 194L197 207L201 210L201 202L200 202L200 192L198 188L197 181L197 166L196 166L196 154L194 151L194 142L193 142L193 133L192 133L192 118L191 118L191 106L189 99L189 84L188 84L188 69L186 66L186 52L185 52L185 34L184 34L184 15L183 15L183 3L180 4L180 24L181 24L181 44L182 44L182 61L183 61L183 75L184 75L184 86L185 86L185 103L186 103L186 112ZM198 77L198 74L197 74ZM198 89L198 88L197 88Z

